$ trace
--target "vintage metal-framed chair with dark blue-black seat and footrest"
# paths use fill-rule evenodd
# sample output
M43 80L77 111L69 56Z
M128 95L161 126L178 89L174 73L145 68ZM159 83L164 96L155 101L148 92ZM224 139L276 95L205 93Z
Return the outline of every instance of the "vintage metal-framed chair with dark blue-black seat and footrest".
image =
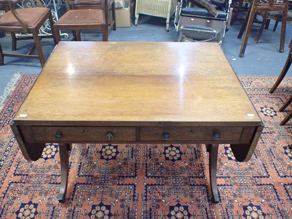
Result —
M221 43L230 18L229 9L226 0L179 1L175 18L178 41Z

